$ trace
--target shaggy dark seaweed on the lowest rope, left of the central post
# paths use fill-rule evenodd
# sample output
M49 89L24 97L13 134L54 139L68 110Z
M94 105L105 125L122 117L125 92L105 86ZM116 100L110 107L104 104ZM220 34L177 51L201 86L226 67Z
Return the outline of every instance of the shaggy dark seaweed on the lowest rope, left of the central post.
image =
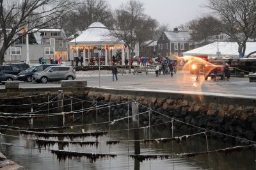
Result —
M97 160L108 159L108 158L115 158L116 155L113 154L100 154L100 153L81 153L75 151L61 151L61 150L52 150L52 154L57 155L59 162L61 160L71 160L72 158L81 158L84 157L89 160L90 163L96 162Z

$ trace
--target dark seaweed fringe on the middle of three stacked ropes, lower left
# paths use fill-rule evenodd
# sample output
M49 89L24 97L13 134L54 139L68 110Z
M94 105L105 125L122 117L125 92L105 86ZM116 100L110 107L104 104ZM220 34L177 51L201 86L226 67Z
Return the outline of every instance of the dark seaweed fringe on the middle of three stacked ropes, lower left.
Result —
M53 146L54 144L61 144L62 146L69 146L69 144L80 146L95 146L99 144L98 141L51 141L51 140L43 140L43 139L33 139L38 145L39 148L44 147L46 149L47 146Z

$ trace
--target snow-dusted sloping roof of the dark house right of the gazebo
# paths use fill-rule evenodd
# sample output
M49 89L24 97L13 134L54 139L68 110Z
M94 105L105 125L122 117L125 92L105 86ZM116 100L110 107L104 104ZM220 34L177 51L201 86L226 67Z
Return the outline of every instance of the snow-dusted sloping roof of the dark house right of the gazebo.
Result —
M188 42L190 40L189 31L164 31L170 42Z

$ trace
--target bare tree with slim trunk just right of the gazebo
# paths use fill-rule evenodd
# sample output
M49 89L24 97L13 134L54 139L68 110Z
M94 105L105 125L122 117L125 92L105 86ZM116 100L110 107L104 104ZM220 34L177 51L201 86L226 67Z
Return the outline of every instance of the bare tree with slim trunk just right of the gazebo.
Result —
M115 28L120 31L114 31L113 36L126 43L129 49L129 60L134 52L138 36L136 29L140 27L140 21L145 17L143 14L143 3L136 0L130 0L127 4L122 4L115 12ZM131 73L131 62L129 62L129 73Z

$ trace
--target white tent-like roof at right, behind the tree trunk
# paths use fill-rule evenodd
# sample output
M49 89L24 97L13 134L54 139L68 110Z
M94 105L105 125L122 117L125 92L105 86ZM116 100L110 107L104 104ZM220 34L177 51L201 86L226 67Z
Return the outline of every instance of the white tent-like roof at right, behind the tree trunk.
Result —
M219 48L219 50L218 50ZM256 50L256 42L246 43L246 52L244 56L250 54ZM238 44L236 42L214 42L197 49L183 52L184 56L217 56L217 52L220 52L219 56L239 56Z

